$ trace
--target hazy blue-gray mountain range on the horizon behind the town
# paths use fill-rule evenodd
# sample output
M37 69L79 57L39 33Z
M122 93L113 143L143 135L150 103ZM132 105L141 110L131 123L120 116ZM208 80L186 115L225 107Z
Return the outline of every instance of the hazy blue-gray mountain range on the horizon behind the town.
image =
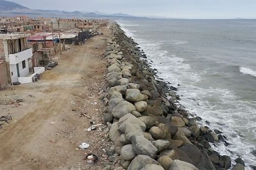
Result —
M30 17L90 17L90 18L102 18L102 17L115 17L115 16L121 16L121 17L133 17L129 14L123 14L123 13L115 13L115 14L106 14L99 11L94 12L88 12L88 11L73 11L73 12L67 12L67 11L59 11L59 10L35 10L35 9L29 9L27 7L24 7L22 5L19 5L14 2L0 0L0 16L15 16L15 15L27 15Z

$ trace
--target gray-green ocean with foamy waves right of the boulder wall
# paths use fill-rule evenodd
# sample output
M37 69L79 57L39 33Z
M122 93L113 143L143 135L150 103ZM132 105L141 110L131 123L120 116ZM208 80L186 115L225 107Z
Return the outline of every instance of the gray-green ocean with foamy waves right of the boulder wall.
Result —
M116 19L201 125L227 136L222 155L256 166L256 20ZM179 86L178 86L179 84Z

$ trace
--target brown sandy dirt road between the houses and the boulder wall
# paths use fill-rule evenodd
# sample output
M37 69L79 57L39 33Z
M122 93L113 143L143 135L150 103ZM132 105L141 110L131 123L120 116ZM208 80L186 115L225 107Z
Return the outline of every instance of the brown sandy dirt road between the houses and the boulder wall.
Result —
M56 56L59 65L44 72L38 82L0 91L0 116L10 114L13 119L0 129L1 170L101 169L102 149L109 143L104 139L107 129L85 129L90 120L102 123L99 96L106 71L102 54L111 30L102 32ZM11 102L17 99L23 102ZM82 142L88 142L89 149L76 150ZM99 161L87 163L88 153L98 155Z

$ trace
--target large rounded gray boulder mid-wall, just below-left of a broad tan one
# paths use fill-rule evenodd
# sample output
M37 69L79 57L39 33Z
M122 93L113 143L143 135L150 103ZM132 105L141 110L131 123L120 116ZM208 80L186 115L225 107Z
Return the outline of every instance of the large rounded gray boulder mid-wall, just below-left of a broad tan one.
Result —
M125 114L132 113L133 111L136 111L136 107L133 104L122 101L113 108L112 114L116 118L121 118Z

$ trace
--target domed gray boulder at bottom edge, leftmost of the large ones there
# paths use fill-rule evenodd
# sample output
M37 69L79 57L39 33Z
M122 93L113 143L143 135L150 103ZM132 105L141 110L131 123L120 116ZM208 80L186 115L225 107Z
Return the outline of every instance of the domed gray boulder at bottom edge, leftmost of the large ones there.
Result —
M127 170L141 170L146 164L160 165L155 159L147 155L137 155L127 168Z

